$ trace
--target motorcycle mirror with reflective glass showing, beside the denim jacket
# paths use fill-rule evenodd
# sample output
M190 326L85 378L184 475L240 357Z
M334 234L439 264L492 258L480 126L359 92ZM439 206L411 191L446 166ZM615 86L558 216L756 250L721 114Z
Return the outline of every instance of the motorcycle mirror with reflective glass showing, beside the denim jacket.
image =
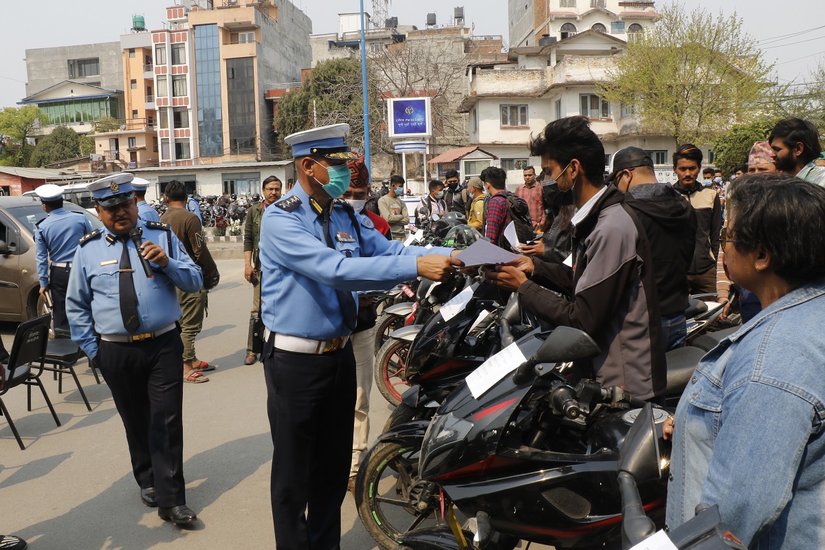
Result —
M661 477L659 469L659 440L653 407L648 403L625 436L619 451L616 470L628 472L637 483L650 482Z

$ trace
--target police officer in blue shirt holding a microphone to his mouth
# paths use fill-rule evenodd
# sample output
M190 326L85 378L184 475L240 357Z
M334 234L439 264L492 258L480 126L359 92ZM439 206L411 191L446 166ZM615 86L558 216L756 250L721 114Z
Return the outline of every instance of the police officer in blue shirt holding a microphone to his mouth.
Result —
M203 276L166 223L138 219L131 180L131 174L115 174L87 188L104 228L80 240L66 313L72 340L111 388L141 500L158 506L163 519L191 524L196 515L184 494L183 344L175 287L196 292ZM130 237L135 228L140 251Z

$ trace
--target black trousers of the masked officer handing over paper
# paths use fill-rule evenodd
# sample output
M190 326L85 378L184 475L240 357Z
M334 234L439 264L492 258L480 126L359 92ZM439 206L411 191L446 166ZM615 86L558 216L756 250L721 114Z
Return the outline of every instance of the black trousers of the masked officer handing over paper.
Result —
M324 355L264 348L278 550L341 548L355 417L352 344ZM304 514L304 511L306 512Z

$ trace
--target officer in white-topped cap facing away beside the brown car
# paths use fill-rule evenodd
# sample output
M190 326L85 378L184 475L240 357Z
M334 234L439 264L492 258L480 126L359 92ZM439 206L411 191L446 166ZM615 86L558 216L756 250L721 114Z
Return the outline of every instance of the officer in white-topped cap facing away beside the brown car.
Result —
M52 321L55 329L67 329L66 288L72 270L74 251L80 238L92 231L92 224L79 212L63 207L63 189L47 183L35 189L48 214L37 223L35 251L40 295L51 294ZM50 266L51 264L51 266Z

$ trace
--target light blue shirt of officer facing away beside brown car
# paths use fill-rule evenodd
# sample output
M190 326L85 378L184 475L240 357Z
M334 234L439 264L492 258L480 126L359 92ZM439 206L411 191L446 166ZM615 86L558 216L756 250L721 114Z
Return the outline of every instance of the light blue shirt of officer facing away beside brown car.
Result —
M79 212L69 212L59 208L37 224L35 231L35 251L37 277L40 286L49 286L49 261L65 263L72 261L80 238L92 231L92 224Z

